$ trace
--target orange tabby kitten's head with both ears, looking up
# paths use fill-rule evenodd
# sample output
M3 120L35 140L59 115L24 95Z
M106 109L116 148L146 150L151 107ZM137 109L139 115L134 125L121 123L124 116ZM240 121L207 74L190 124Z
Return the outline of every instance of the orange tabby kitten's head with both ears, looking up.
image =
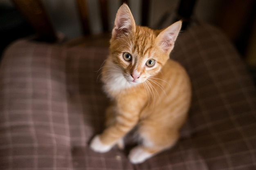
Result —
M110 40L110 60L130 84L139 84L156 75L169 58L181 21L162 30L137 26L129 7L117 11Z

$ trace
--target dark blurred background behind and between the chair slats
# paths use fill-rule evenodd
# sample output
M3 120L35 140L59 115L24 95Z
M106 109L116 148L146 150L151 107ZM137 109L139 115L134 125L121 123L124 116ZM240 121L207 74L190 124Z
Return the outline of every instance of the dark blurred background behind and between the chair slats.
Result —
M141 24L141 1L129 0L135 22ZM42 0L54 29L66 38L83 35L75 0ZM93 34L101 33L98 0L87 0ZM151 0L148 26L162 29L173 22L179 0ZM108 0L109 24L113 25L120 0ZM233 42L252 77L256 79L256 1L197 0L193 19L221 29ZM111 28L110 28L111 29ZM14 40L33 35L34 29L11 0L0 0L0 53Z

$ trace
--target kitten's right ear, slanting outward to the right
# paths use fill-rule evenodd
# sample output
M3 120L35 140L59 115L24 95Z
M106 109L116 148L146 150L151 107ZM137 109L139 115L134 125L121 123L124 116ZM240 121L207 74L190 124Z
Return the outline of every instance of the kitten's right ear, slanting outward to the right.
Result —
M178 21L168 26L162 32L157 35L157 45L164 51L170 53L174 47L175 40L179 35L180 29L182 26L182 22Z

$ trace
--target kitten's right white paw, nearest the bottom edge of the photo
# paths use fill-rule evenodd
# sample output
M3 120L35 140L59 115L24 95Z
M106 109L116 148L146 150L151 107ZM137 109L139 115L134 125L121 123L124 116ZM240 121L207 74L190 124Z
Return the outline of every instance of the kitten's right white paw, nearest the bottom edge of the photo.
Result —
M146 152L141 147L137 146L130 151L129 159L131 163L136 164L136 163L142 163L146 159L152 156L153 156L152 153Z

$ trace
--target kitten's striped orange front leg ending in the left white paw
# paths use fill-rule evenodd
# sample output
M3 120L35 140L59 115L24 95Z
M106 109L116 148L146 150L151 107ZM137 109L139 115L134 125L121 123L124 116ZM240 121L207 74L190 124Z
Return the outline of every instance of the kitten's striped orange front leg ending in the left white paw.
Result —
M144 99L120 99L115 102L115 121L100 135L92 139L90 148L96 152L108 152L119 139L123 138L139 120L139 108L144 105Z

